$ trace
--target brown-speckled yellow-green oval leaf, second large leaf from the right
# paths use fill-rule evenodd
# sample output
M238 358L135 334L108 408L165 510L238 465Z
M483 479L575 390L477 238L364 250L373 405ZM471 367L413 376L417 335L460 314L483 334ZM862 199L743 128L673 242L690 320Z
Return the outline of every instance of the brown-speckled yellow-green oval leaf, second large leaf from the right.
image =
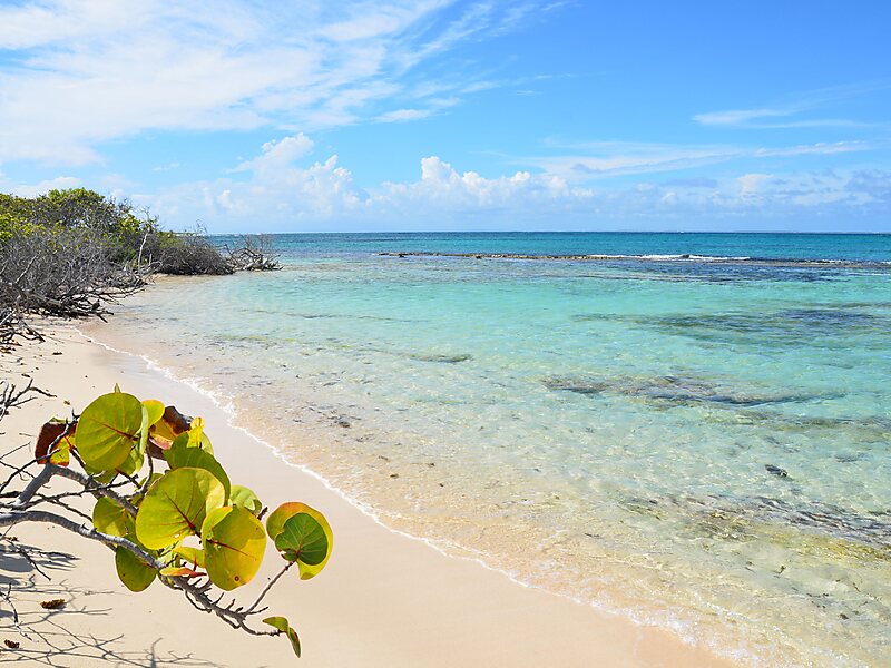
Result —
M263 524L249 511L225 505L207 513L202 544L210 581L231 591L249 582L260 570L266 536Z

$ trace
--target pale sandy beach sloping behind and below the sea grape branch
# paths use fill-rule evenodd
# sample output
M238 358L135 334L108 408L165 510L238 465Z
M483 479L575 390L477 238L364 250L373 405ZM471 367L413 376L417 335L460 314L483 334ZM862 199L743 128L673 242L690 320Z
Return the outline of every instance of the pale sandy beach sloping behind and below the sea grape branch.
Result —
M114 326L114 325L109 325ZM645 628L545 591L522 587L480 563L444 556L393 532L351 505L317 477L286 465L242 430L207 396L52 324L40 345L3 357L3 373L55 394L14 410L2 424L3 449L32 441L49 416L80 409L118 383L140 397L158 397L206 419L217 458L234 481L267 505L301 500L321 509L335 533L326 571L273 591L271 610L291 618L304 656L283 639L252 638L194 610L158 583L127 591L111 553L57 528L17 527L26 543L58 554L42 564L51 580L20 557L3 554L0 577L12 587L23 637L2 609L2 638L21 642L0 662L47 666L722 666L712 654L667 631ZM70 403L69 403L70 402ZM23 451L22 451L23 453ZM20 454L20 453L17 453ZM270 558L272 557L272 558ZM265 582L275 556L245 591ZM39 601L65 598L46 611Z

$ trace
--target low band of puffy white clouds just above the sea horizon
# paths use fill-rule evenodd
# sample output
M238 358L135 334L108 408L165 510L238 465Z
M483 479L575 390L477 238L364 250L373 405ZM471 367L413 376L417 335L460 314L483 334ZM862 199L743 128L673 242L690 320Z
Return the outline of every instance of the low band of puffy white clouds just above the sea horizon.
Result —
M296 140L296 138L294 138ZM309 139L305 139L309 141ZM301 165L283 151L275 168L266 144L243 163L239 179L184 184L135 197L175 227L200 220L212 232L333 229L560 229L623 226L734 229L746 224L780 228L796 216L845 225L851 214L891 209L891 173L731 173L722 178L638 181L630 185L572 184L558 174L526 170L486 177L459 171L438 156L420 161L415 180L361 188L337 156ZM667 150L667 149L666 149ZM757 149L751 149L750 153ZM813 147L776 149L786 154ZM647 154L649 155L649 154ZM750 223L746 223L750 222ZM844 227L842 227L843 229Z

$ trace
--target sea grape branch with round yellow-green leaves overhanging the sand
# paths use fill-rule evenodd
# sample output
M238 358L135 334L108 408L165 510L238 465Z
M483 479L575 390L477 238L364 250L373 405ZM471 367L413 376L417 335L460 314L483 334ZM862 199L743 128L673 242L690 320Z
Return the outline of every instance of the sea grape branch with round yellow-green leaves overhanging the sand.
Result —
M114 550L117 576L130 591L157 580L233 628L286 637L300 656L291 622L263 617L263 601L295 564L303 580L322 571L331 557L331 527L304 503L283 503L267 515L252 490L232 484L204 426L200 418L116 386L79 416L42 426L33 460L0 487L0 499L14 497L0 503L0 527L49 522L102 542ZM8 493L29 465L42 468L21 492ZM78 487L46 489L53 478ZM96 499L89 517L68 502L75 495ZM72 513L89 521L78 523ZM225 592L254 579L268 542L283 560L281 569L251 603L223 602ZM252 623L258 617L265 627Z

